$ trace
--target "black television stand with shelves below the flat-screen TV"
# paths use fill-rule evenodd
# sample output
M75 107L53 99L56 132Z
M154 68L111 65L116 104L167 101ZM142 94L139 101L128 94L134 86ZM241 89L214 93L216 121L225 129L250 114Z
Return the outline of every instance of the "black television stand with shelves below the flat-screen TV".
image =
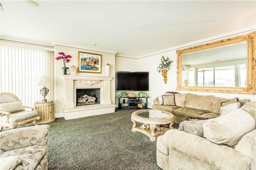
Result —
M148 109L148 98L146 97L118 98L118 109Z

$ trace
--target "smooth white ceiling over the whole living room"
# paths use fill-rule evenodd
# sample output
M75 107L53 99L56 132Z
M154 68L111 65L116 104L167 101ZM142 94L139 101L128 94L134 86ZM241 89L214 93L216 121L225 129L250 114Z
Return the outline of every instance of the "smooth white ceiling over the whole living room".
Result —
M2 0L1 39L139 58L256 25L255 0L36 2Z

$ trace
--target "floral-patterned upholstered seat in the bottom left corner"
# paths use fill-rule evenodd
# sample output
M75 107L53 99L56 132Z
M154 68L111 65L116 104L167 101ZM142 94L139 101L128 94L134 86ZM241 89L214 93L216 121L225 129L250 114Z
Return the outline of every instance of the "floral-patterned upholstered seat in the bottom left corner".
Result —
M47 170L49 125L0 132L0 170Z

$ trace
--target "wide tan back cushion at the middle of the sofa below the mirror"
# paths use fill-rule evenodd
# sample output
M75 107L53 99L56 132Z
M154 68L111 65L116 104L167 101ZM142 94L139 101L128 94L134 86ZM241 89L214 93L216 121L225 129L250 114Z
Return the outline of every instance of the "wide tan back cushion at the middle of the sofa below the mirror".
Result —
M212 112L213 99L214 99L213 95L200 96L200 95L188 93L186 97L186 107L204 109Z

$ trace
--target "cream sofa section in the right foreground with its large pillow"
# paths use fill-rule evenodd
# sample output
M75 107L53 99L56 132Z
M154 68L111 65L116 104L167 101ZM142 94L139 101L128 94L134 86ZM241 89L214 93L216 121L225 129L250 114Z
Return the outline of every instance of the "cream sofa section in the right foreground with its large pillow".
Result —
M224 107L230 106L232 104ZM256 169L256 102L204 120L199 128L203 137L180 129L170 129L158 137L158 166L163 170Z

